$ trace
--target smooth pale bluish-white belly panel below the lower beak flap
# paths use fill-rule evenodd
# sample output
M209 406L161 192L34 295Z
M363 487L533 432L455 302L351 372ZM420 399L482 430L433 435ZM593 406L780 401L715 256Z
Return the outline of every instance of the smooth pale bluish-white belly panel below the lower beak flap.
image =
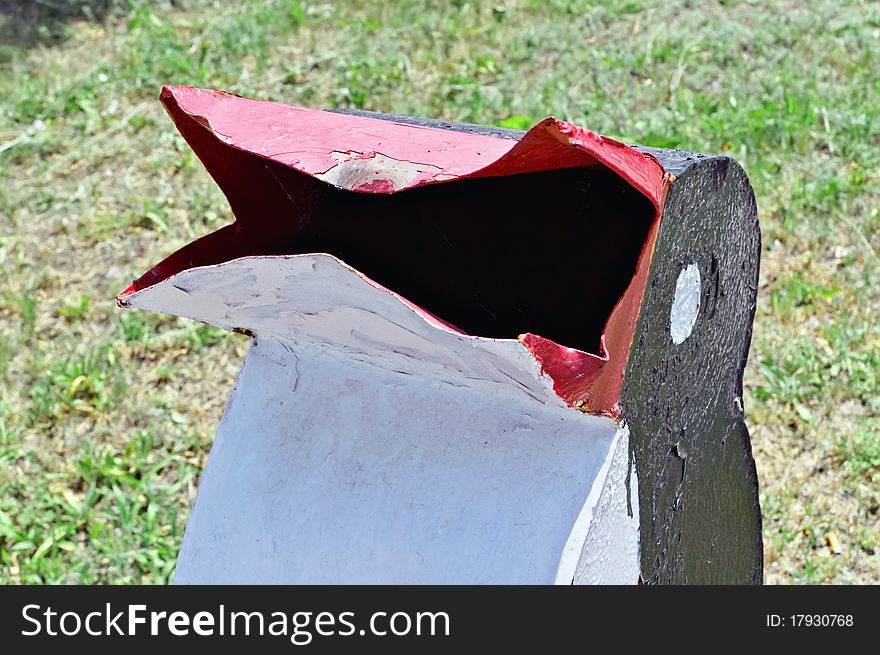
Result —
M614 452L611 420L289 348L248 355L175 582L556 580Z

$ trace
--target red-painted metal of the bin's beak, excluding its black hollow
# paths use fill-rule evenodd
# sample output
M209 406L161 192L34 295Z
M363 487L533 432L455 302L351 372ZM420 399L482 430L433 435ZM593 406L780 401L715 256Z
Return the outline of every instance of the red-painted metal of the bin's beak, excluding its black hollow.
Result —
M591 413L618 414L623 371L669 182L655 159L553 118L535 125L520 141L513 141L291 107L192 87L164 87L160 98L226 194L236 221L157 264L123 291L120 300L188 268L279 252L279 243L302 233L326 187L323 183L303 184L302 179L330 171L339 164L340 157L369 160L378 153L429 168L403 183L380 178L350 190L361 194L389 194L453 179L585 166L601 166L619 175L651 202L655 215L635 275L605 324L604 348L596 355L534 334L520 337L566 402ZM269 221L266 217L285 219ZM560 235L560 239L565 238ZM591 248L613 247L586 245L584 256L590 256Z

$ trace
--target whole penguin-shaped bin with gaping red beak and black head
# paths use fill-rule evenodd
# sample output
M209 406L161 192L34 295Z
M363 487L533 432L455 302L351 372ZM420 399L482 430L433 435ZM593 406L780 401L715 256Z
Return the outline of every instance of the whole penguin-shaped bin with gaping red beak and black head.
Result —
M251 339L175 582L761 581L736 162L161 100L235 221L118 303Z

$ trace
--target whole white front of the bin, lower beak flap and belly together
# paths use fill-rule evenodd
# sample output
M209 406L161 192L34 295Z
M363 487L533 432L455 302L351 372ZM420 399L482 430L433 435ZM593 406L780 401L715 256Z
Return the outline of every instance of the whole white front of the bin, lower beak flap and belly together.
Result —
M175 582L636 581L628 434L566 406L518 341L432 323L326 255L127 302L256 334Z

